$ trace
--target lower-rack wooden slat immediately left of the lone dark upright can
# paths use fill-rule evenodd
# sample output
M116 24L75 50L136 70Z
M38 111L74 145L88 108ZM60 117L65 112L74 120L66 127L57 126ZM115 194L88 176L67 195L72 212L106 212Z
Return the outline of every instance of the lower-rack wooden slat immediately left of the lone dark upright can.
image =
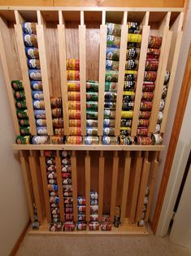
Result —
M110 209L111 223L114 222L114 215L115 215L118 168L119 168L119 157L118 157L118 152L115 151L114 157L113 157L113 173L112 173L112 183L111 183L111 209Z

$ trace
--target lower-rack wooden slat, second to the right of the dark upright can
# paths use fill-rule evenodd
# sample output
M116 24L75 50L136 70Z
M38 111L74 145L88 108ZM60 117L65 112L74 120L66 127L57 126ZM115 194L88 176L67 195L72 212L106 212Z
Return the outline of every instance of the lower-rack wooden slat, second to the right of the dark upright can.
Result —
M136 158L136 165L135 165L135 179L134 184L132 188L132 205L131 205L131 211L130 211L130 222L135 222L135 213L136 213L136 206L137 206L137 197L139 192L139 184L141 179L141 167L142 167L142 157L141 152L137 152L137 158Z

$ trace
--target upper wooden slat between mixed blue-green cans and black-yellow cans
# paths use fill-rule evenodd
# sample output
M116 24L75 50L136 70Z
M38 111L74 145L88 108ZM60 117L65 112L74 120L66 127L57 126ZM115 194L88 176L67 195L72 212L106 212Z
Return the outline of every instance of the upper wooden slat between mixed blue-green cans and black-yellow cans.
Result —
M127 25L127 11L124 11L124 24L121 26L120 38L120 53L119 53L119 77L117 86L116 99L116 113L115 113L115 136L120 132L121 109L124 92L124 72L126 62L127 40L128 39L128 25Z

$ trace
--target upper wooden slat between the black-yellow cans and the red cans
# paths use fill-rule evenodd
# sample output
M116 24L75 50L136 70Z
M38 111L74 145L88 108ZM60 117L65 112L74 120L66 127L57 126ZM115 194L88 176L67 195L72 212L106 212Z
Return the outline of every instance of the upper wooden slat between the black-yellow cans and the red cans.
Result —
M133 108L133 117L132 117L132 136L137 135L137 124L139 119L139 111L140 111L140 104L141 104L141 95L142 95L142 83L144 80L144 73L145 73L145 60L146 60L146 51L148 47L148 40L150 36L150 26L148 26L149 20L149 12L147 11L144 18L144 25L142 28L142 40L141 40L141 53L139 58L139 68L137 71L137 88L136 88L136 95L134 101L134 108Z

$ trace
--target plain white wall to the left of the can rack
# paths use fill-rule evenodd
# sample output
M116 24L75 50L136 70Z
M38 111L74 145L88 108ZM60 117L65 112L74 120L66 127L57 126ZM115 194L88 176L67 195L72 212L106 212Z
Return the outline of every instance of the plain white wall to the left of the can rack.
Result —
M28 223L28 206L20 161L11 149L15 131L1 63L0 88L0 255L7 256Z

